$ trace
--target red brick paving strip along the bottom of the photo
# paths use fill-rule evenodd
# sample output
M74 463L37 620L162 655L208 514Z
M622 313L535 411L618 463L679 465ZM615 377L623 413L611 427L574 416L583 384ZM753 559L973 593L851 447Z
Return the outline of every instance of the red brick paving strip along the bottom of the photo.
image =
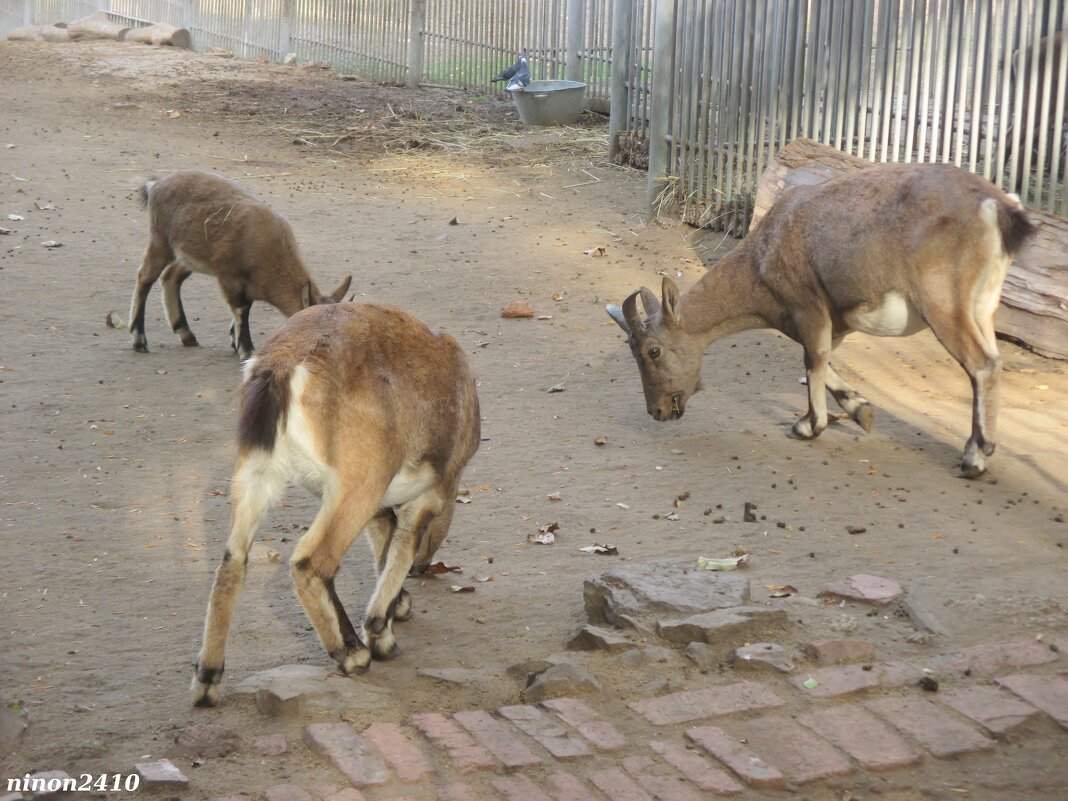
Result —
M787 798L798 786L841 787L931 759L971 759L961 770L981 772L1008 733L1014 749L1028 735L1068 748L1064 661L1046 666L1058 659L1048 645L1010 640L922 665L839 664L651 698L425 712L362 732L316 723L303 740L352 785L324 801L700 801L753 790ZM953 686L925 692L917 682L929 673L952 675ZM294 784L253 797L318 798Z

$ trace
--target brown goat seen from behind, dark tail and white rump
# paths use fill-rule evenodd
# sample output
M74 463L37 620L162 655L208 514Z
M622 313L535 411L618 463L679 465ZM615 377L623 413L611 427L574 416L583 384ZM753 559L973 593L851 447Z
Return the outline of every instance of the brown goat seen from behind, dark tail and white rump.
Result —
M230 539L215 575L193 703L219 701L226 633L260 521L289 478L323 505L289 560L297 596L337 666L362 673L396 650L411 614L405 576L449 532L460 472L478 449L478 397L459 345L398 309L341 303L278 328L245 364ZM361 532L378 581L357 633L334 590Z

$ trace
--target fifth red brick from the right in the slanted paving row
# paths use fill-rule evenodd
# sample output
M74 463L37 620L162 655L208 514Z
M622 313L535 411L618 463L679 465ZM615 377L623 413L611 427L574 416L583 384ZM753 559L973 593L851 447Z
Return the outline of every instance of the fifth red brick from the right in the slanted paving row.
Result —
M775 767L798 784L853 772L837 749L789 718L757 718L739 724L735 731L744 735L755 753L774 754Z

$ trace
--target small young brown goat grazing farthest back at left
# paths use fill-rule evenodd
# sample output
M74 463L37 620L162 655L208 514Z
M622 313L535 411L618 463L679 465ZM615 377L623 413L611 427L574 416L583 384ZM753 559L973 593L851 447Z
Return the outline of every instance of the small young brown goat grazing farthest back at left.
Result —
M215 276L234 321L230 345L242 359L252 355L249 310L264 300L286 317L345 297L352 277L330 295L312 280L282 215L238 184L200 170L180 170L141 187L148 208L148 247L137 272L130 304L134 349L147 352L144 301L162 277L163 311L183 345L197 345L182 308L182 284L194 272Z

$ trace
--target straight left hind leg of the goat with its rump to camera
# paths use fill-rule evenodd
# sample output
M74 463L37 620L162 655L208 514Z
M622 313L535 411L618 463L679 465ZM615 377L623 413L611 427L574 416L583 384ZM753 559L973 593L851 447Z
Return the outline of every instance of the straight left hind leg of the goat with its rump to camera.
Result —
M231 489L230 539L222 564L215 572L211 596L204 618L204 642L197 659L192 693L194 706L219 703L219 685L225 664L226 634L234 617L234 608L245 584L249 548L256 536L260 521L281 497L285 475L268 455L253 453L238 461Z

